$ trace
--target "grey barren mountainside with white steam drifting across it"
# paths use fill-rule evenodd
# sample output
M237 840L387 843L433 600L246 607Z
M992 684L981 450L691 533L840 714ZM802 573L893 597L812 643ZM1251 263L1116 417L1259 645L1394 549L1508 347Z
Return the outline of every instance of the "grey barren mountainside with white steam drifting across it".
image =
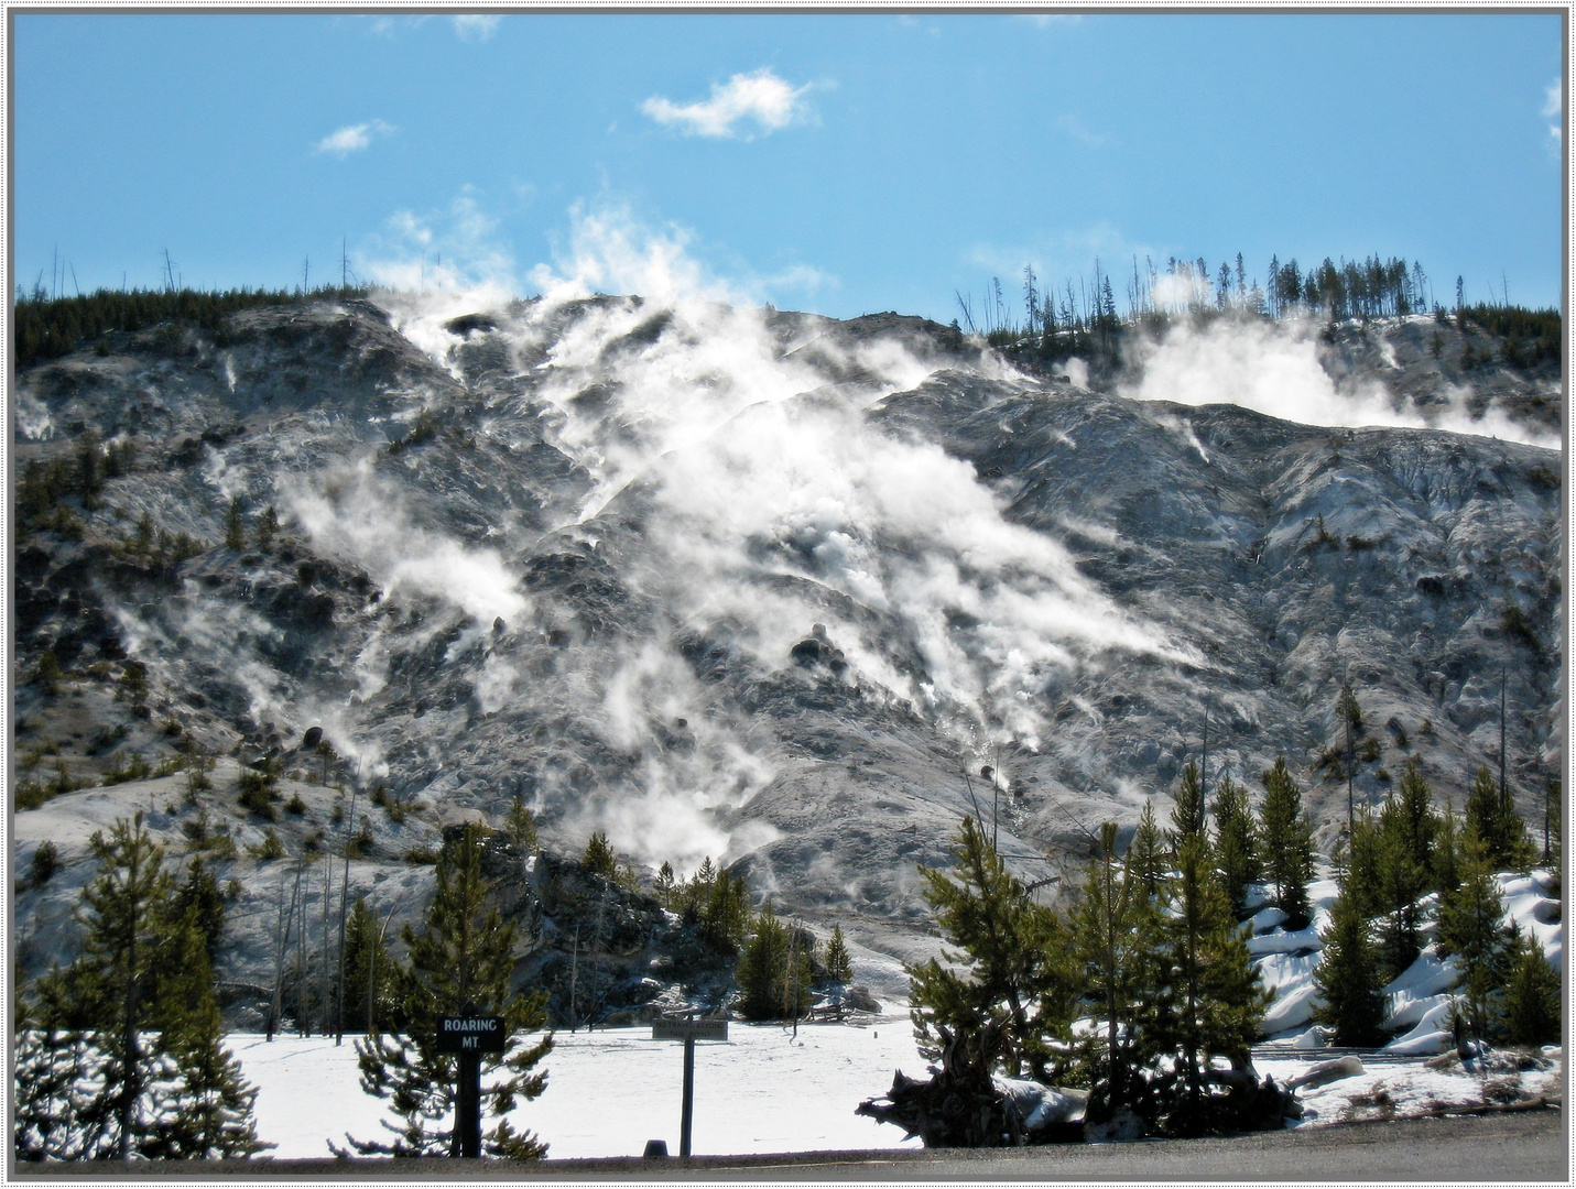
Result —
M1546 376L1453 376L1428 332L1324 343L1332 398L1557 424ZM80 534L19 534L22 781L158 762L184 732L233 756L197 800L252 841L240 764L380 783L399 820L364 795L356 817L399 887L430 876L402 861L441 822L520 795L550 847L600 828L652 869L738 865L779 912L840 921L857 965L933 950L916 865L965 813L1067 888L1102 820L1165 814L1206 720L1210 781L1258 794L1283 754L1343 820L1343 682L1360 802L1411 754L1458 805L1497 775L1502 674L1529 817L1559 775L1549 449L1171 403L1154 351L1091 391L895 315L388 299L249 310L221 337L112 334L19 378L19 474L90 428L137 447L96 507L61 496ZM33 680L46 650L57 693ZM310 726L331 756L299 746ZM162 811L165 781L113 795ZM14 858L91 797L17 814ZM195 806L175 809L178 839ZM296 847L329 814L277 830ZM85 835L65 836L69 876ZM224 961L262 983L277 877L244 847L225 863L255 937ZM57 879L20 912L63 918L80 879Z

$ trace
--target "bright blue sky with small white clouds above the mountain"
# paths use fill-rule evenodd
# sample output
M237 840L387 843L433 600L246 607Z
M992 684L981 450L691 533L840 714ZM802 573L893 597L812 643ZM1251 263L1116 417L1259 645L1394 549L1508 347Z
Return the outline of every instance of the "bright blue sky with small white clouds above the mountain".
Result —
M1557 14L13 13L14 285L156 285L164 249L318 282L344 243L947 321L1024 263L1240 250L1560 299Z

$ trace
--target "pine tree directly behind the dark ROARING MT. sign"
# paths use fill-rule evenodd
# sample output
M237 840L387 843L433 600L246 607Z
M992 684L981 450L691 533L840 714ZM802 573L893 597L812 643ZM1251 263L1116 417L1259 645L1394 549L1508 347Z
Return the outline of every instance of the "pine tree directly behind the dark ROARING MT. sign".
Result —
M356 1041L361 1088L388 1098L400 1126L385 1120L392 1143L356 1140L361 1154L457 1156L454 1087L459 1057L438 1052L438 1017L465 1013L503 1016L507 1041L501 1055L482 1058L482 1102L498 1124L482 1135L487 1156L537 1159L547 1145L531 1132L514 1132L507 1115L517 1098L533 1101L547 1085L545 1072L531 1072L552 1050L552 1033L525 1044L517 1033L547 1024L547 995L511 989L519 928L496 906L487 906L481 871L482 830L471 824L438 855L438 888L421 932L405 926L407 961L396 969L397 1011L408 1033L381 1033ZM489 1082L489 1074L500 1074ZM333 1145L329 1145L333 1146ZM334 1148L336 1153L344 1151Z

